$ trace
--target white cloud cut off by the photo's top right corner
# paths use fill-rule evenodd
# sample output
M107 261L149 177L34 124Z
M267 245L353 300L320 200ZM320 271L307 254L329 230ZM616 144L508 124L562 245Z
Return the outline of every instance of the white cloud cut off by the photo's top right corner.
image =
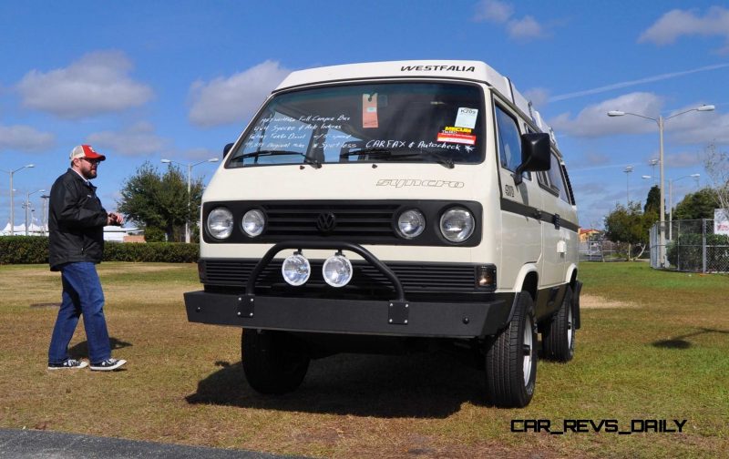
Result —
M712 6L703 17L695 10L674 9L643 32L638 42L671 45L681 36L723 36L725 44L719 52L729 53L729 9Z

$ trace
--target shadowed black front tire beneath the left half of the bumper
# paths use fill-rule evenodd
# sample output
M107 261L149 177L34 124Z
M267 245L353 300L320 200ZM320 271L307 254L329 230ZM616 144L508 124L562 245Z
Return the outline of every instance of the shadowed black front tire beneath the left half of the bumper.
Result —
M288 393L299 387L309 369L309 354L282 331L243 330L241 357L245 378L258 393Z

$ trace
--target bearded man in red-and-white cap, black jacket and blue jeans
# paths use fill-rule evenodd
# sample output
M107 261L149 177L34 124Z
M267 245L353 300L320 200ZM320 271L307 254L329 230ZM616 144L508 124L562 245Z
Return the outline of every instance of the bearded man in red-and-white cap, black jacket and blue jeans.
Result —
M126 361L111 358L104 292L96 264L104 253L104 226L122 224L122 217L101 207L96 179L98 164L105 160L94 148L80 145L71 150L71 167L51 188L48 215L49 263L61 271L63 294L48 349L48 370L84 368L87 362L68 355L68 343L83 314L91 370L116 370Z

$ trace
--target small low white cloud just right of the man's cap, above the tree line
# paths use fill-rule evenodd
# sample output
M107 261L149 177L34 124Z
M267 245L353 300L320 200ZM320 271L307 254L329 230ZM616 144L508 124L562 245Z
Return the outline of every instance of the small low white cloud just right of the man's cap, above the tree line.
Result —
M159 138L154 127L145 122L137 123L120 132L102 131L90 134L88 143L102 154L110 149L115 153L128 157L140 157L160 153L166 147L166 140Z

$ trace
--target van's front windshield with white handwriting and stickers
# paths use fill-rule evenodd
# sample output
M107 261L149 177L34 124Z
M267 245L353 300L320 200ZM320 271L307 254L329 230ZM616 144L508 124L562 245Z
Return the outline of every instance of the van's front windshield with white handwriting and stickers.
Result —
M386 83L322 87L272 97L227 167L483 159L479 87Z

